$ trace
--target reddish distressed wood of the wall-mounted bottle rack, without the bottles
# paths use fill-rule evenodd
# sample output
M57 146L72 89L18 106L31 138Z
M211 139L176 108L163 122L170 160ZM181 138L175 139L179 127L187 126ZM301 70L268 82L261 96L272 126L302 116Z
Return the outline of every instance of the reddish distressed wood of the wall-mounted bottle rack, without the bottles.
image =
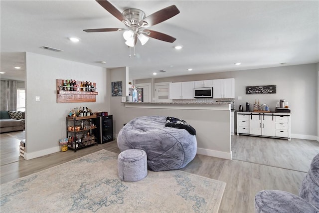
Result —
M88 91L67 91L62 90L63 80L56 80L56 102L57 103L80 103L80 102L96 102L95 96L98 92ZM94 88L96 84L93 83Z

